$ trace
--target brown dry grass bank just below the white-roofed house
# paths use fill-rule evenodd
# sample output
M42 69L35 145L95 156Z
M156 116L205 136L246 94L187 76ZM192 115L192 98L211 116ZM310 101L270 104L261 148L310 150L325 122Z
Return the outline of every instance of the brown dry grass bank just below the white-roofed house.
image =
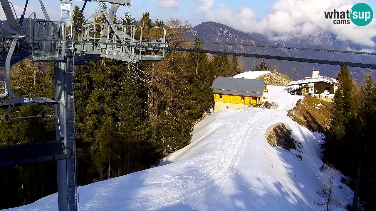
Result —
M324 106L317 106L320 103ZM331 109L332 102L322 101L313 98L311 95L306 95L304 99L297 102L294 109L290 110L287 116L310 131L326 133L328 130L327 126L331 124Z

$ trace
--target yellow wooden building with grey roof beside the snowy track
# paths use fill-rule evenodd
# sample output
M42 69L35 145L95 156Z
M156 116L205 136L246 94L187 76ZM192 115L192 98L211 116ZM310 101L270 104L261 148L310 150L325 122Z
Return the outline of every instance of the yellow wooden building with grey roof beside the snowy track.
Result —
M262 104L268 92L262 80L247 78L218 77L212 84L214 112L224 109L240 109Z

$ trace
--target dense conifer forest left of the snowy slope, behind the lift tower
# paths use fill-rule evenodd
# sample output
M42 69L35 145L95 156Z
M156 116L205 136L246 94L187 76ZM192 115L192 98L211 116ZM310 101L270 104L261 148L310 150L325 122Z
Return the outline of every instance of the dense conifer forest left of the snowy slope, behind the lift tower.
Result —
M103 4L106 6L105 4ZM80 8L74 9L73 23ZM97 9L97 23L104 15ZM165 26L168 39L179 39L190 23L141 20L129 12L115 23ZM81 23L85 16L82 16ZM152 30L144 36L153 36ZM203 49L199 36L193 46ZM182 46L183 43L171 43ZM171 52L163 62L127 63L112 59L76 66L76 140L78 185L126 175L158 165L164 156L188 145L194 123L213 107L211 84L219 76L240 73L237 57ZM25 59L12 69L12 87L19 96L54 97L54 64ZM15 115L35 115L42 107L20 107ZM54 112L52 108L47 112ZM15 109L16 110L16 109ZM5 114L3 111L2 115ZM55 139L53 118L0 121L0 145ZM0 169L0 209L34 202L57 192L56 163Z

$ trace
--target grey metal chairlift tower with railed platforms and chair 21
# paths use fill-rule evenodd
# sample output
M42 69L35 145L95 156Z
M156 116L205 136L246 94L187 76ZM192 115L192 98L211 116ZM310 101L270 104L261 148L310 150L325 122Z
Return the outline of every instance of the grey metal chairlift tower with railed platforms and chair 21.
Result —
M56 119L56 140L2 147L0 154L3 152L7 156L3 160L0 158L0 167L57 161L59 211L77 211L74 66L86 65L89 60L99 60L103 57L125 62L164 60L166 50L125 47L111 45L111 43L169 47L166 41L166 30L163 27L114 24L118 8L130 6L131 0L85 0L81 14L87 2L96 2L105 15L105 21L96 23L95 18L90 17L84 20L82 26L77 25L74 28L72 26L72 0L60 0L61 20L59 21L50 20L42 0L39 2L46 20L37 21L35 12L25 18L28 1L26 0L20 20L17 20L13 5L8 0L0 0L9 22L9 27L0 27L0 66L5 67L5 87L0 84L2 90L0 97L8 96L0 104L1 109L7 110L6 115L0 120L53 116ZM105 11L102 2L111 4L109 11ZM80 23L80 20L77 23ZM160 30L159 34L162 36L145 39L143 31L146 28ZM74 40L75 37L84 43L68 42ZM55 99L43 96L23 98L13 92L10 82L11 66L27 57L33 61L55 63ZM27 105L44 105L44 109L35 116L9 117L13 107ZM55 114L45 113L49 106L55 106ZM24 151L30 151L30 155L27 155L29 157L23 153Z

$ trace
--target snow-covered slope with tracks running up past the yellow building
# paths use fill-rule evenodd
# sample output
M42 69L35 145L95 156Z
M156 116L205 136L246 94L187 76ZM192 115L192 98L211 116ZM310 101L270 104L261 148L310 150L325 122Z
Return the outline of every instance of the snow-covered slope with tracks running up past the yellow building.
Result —
M322 210L311 200L327 177L319 170L321 134L286 116L303 96L285 89L268 86L266 100L276 99L276 109L227 109L207 116L194 127L191 144L167 156L161 166L79 187L80 210ZM278 122L302 144L301 152L268 144L264 134ZM334 177L334 194L342 203L332 207L337 211L352 198L340 177ZM9 210L56 211L57 195Z

